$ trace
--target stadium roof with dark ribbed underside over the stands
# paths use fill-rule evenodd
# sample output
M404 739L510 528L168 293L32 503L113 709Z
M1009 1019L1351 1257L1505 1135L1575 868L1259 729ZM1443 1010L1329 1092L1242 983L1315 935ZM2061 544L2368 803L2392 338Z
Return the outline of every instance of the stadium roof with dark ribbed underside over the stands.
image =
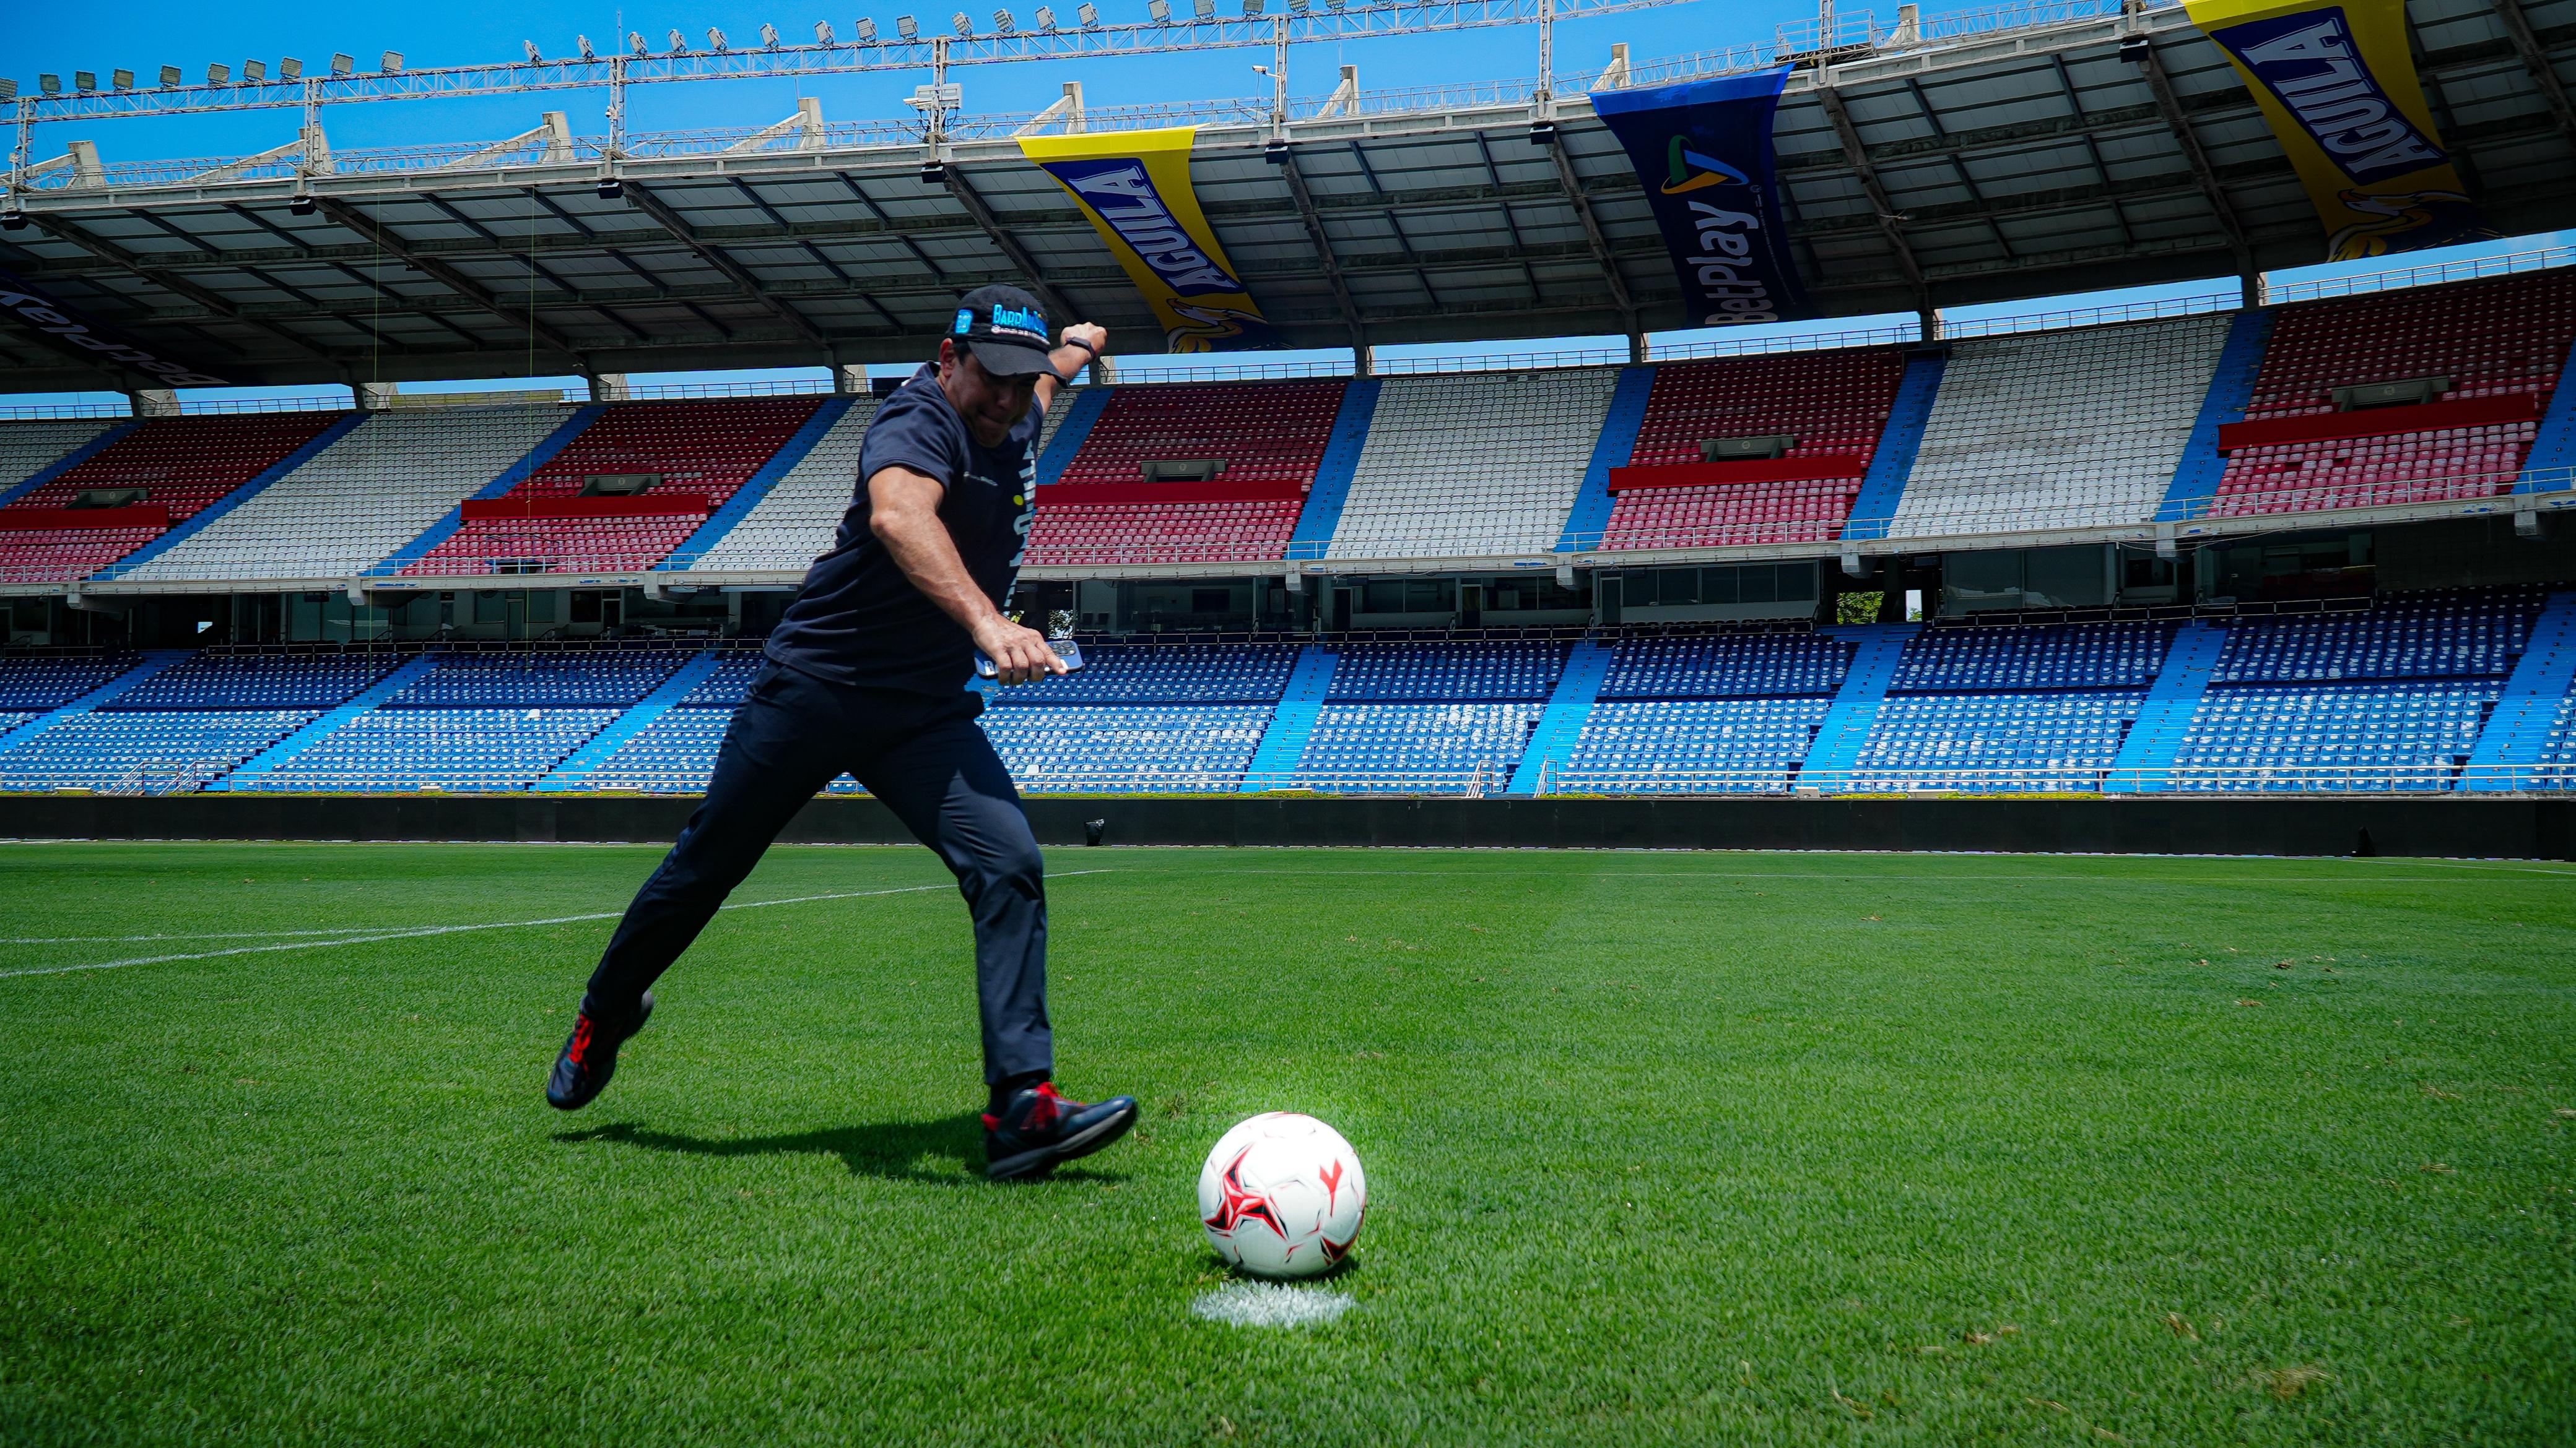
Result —
M2553 70L2576 62L2576 0L2409 13L2434 119L2488 219L2576 224L2576 111ZM2148 64L2120 57L2130 33L2148 36ZM1816 54L1783 100L1777 165L1829 314L2324 260L2287 157L2179 5L1935 18ZM1682 57L1623 82L1777 59ZM1533 82L1345 80L1291 106L1288 165L1265 160L1270 98L1082 124L1203 126L1198 193L1293 345L1682 327L1643 193L1582 98L1602 82L1620 77L1558 77L1556 147L1530 139ZM1144 301L1012 142L1066 121L951 116L943 183L922 178L917 121L801 111L760 131L629 137L623 198L595 193L603 142L559 121L482 147L327 157L325 142L312 160L286 144L116 165L75 147L18 193L28 224L0 232L0 268L237 384L917 361L958 291L1023 276L1139 348L1157 335ZM0 332L0 389L134 381Z

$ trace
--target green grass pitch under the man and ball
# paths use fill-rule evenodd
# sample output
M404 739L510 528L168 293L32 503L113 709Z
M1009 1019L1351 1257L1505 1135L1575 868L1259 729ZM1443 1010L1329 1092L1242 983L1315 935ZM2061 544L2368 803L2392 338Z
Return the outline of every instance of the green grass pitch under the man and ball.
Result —
M0 1443L2576 1438L2571 866L1059 850L1146 1118L992 1188L922 850L549 1110L654 858L0 848ZM1327 1327L1193 1314L1265 1108L1368 1165Z

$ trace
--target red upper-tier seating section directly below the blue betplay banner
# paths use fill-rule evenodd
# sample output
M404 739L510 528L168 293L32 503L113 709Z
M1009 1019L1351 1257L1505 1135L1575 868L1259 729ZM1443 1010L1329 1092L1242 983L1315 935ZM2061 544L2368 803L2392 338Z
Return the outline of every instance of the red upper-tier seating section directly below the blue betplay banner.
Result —
M1600 546L1839 536L1904 368L1896 348L1659 366Z

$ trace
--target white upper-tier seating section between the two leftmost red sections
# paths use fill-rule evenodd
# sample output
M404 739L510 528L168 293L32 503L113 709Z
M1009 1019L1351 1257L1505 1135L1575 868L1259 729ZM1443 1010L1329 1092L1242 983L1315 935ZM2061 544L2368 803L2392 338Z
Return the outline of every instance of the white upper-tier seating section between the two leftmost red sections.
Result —
M345 577L384 559L554 433L564 407L374 412L134 580Z

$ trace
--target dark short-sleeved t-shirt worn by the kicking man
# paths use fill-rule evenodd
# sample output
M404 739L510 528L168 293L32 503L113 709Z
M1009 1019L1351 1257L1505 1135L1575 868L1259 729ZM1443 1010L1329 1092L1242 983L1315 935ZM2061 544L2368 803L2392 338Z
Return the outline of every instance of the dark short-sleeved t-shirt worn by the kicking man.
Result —
M868 479L907 466L935 477L940 520L994 608L1010 600L1038 513L1038 407L999 448L987 448L940 392L935 366L912 374L868 423L858 451L858 495L840 515L832 551L806 569L796 603L770 631L768 654L793 670L858 688L958 693L974 678L974 639L912 587L894 554L868 531Z

